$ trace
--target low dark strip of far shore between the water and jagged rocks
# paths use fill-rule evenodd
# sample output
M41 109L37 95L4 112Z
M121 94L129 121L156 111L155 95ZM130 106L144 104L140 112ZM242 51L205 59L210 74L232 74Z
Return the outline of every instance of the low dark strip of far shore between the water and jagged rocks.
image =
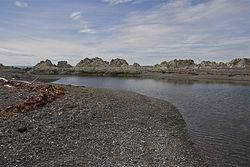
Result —
M72 74L32 74L25 69L18 69L12 67L0 68L0 75L7 78L24 78L28 81L35 80L41 82L53 82L61 77L69 76L93 76L93 77L126 77L138 79L155 79L155 80L179 80L184 83L187 82L206 82L206 83L232 83L232 84L250 84L250 74L236 73L236 74L188 74L188 73L162 73L162 72L144 72L141 74L105 74L105 73L72 73Z

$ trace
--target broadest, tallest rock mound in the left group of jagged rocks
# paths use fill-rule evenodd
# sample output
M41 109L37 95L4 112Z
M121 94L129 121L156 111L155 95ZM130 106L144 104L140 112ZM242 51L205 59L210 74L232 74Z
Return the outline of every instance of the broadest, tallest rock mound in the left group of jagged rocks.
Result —
M81 60L76 67L106 67L109 63L107 61L103 61L99 57L95 57L92 59L85 58L84 60Z

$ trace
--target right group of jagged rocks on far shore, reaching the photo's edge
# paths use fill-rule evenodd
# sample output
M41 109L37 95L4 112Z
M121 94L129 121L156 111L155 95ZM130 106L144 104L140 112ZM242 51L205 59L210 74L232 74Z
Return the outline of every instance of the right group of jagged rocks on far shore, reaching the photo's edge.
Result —
M148 72L179 73L179 74L211 74L211 75L238 75L248 74L250 70L250 59L234 59L229 63L217 63L214 61L202 61L195 64L193 60L172 60L163 61L152 67L148 67ZM248 69L248 70L247 70Z

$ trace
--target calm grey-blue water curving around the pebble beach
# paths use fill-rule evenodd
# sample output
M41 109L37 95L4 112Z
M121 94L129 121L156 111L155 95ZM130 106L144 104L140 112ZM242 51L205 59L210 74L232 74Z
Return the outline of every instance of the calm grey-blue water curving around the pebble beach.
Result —
M64 77L61 84L135 91L181 112L210 166L250 166L250 86L112 77Z

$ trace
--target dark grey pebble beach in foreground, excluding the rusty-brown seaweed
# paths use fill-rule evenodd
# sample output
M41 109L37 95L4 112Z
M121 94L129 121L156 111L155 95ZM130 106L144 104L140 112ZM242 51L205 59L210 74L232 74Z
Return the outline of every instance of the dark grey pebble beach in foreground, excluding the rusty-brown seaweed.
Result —
M170 103L63 87L66 94L53 102L0 118L0 166L206 166ZM2 110L37 94L3 85L0 91Z

